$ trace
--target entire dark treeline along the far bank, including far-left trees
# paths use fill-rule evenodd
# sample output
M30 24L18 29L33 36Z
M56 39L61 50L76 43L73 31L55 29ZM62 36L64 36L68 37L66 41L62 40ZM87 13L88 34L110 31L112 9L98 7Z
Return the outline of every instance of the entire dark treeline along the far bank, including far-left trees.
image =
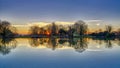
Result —
M77 21L72 25L58 25L55 22L44 27L31 26L27 37L120 37L120 28L113 31L113 26L106 25L106 29L88 32L88 25L84 21ZM25 37L24 36L24 37ZM16 28L7 21L0 21L0 37L21 37Z

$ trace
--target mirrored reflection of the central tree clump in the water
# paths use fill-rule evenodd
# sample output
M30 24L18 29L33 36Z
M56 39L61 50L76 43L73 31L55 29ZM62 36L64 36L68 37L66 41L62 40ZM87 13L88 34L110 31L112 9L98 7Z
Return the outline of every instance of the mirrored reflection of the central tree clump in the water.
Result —
M38 47L43 45L46 46L47 48L51 48L52 50L67 46L74 48L77 52L85 51L88 46L87 38L72 38L72 39L31 38L29 43L32 47Z

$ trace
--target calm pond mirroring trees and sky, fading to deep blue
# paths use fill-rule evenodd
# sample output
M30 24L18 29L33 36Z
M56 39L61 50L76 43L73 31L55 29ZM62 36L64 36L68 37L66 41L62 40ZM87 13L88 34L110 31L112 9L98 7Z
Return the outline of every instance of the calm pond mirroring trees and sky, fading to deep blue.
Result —
M120 68L120 39L0 39L0 68Z

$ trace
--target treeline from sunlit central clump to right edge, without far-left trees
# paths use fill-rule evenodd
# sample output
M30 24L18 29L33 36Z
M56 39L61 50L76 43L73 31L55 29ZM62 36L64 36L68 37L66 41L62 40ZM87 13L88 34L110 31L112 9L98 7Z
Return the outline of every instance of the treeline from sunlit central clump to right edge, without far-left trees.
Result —
M57 25L54 22L44 26L32 26L29 30L33 37L38 36L57 36L57 37L117 37L120 38L120 28L113 31L113 26L106 25L105 30L99 29L96 32L89 33L88 25L84 21L77 21L73 25Z

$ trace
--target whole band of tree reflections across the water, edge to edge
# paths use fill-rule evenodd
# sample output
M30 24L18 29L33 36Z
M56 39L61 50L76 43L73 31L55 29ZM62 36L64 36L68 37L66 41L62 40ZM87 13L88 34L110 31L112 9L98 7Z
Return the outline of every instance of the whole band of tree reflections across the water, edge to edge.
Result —
M22 38L24 39L24 38ZM17 41L16 41L17 40ZM51 50L56 50L59 48L72 48L78 53L82 53L87 49L94 48L113 48L115 45L120 46L120 39L100 39L100 38L28 38L25 46L30 46L33 48L45 47ZM19 38L3 38L0 39L0 53L6 55L17 46ZM18 45L21 43L18 43ZM24 43L23 43L24 44ZM94 46L93 46L94 45Z

